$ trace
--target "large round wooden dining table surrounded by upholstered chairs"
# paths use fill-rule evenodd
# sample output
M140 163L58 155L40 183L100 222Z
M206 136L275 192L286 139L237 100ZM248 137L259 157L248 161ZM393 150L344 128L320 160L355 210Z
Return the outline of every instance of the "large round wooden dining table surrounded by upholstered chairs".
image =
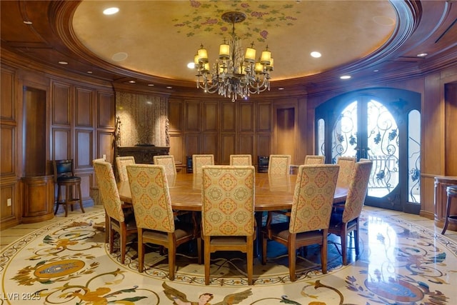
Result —
M291 209L293 191L297 176L271 176L256 173L255 211L277 211ZM176 174L167 176L173 209L181 211L201 211L201 174ZM131 204L129 181L118 184L119 196L124 203ZM333 204L346 201L348 190L336 188Z

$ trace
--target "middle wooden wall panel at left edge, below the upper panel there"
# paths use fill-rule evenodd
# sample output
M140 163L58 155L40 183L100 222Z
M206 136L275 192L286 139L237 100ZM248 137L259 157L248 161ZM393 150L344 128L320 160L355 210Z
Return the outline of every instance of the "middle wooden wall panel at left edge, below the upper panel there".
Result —
M15 176L16 172L16 126L1 125L0 126L0 175Z

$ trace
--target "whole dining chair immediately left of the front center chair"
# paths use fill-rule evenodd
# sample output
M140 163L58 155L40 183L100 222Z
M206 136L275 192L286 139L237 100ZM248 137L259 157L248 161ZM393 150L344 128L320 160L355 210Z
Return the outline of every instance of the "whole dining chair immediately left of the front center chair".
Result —
M156 244L168 249L169 279L173 281L176 248L196 239L196 221L193 224L184 221L175 223L164 165L129 164L126 169L138 229L138 271L144 270L144 244ZM198 251L200 257L201 251Z

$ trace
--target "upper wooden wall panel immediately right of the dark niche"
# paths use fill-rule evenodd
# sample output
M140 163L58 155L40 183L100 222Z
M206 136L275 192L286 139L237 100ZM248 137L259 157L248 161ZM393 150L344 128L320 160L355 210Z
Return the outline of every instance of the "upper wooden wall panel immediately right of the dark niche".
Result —
M52 124L71 124L70 86L67 84L52 83Z

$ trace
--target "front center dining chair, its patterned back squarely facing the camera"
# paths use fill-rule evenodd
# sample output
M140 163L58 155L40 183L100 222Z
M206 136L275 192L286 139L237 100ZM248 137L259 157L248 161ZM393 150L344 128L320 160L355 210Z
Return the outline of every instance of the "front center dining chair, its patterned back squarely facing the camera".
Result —
M209 285L211 253L246 253L248 284L253 284L254 166L203 166L201 235L204 239L205 284Z

